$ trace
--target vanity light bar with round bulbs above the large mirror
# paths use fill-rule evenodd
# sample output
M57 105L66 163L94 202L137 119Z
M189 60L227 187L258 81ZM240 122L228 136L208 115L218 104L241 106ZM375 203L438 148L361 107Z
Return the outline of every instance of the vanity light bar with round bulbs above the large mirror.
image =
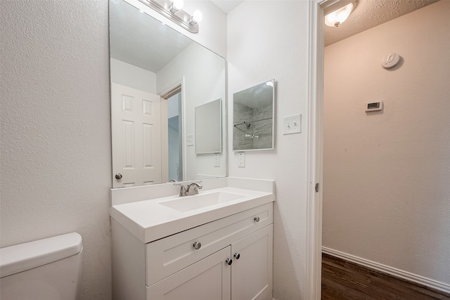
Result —
M198 22L203 18L200 11L194 11L193 15L189 15L186 11L183 11L183 0L139 0L146 6L158 11L161 15L164 15L169 20L172 20L177 25L180 25L188 32L198 33Z

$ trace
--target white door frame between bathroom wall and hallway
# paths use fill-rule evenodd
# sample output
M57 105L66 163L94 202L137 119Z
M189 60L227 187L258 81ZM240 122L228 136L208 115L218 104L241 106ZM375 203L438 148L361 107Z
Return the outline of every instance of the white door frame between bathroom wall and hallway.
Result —
M321 299L323 203L324 15L352 1L310 0L308 39L307 282L305 299ZM344 4L345 3L345 4ZM316 183L319 192L316 193Z

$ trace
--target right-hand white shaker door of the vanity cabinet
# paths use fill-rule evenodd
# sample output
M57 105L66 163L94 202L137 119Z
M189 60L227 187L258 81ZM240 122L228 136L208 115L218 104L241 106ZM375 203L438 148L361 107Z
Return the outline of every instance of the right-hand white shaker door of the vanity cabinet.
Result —
M272 299L273 240L271 224L231 244L232 300Z

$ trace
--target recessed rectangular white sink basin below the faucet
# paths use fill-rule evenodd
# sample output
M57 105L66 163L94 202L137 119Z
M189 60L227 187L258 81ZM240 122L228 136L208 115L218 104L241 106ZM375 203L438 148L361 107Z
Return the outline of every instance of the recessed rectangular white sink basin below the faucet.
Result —
M194 209L201 209L203 207L210 207L214 204L221 204L224 202L229 202L246 197L245 195L226 193L226 192L215 192L208 194L193 195L188 197L179 197L176 200L170 200L166 202L160 202L161 205L165 207L170 207L177 211L191 211Z

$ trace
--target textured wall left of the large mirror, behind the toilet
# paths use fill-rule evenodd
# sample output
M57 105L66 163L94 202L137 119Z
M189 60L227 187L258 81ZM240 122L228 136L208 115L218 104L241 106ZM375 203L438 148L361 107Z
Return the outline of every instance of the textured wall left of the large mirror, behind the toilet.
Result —
M107 1L1 1L1 247L77 231L111 298Z

